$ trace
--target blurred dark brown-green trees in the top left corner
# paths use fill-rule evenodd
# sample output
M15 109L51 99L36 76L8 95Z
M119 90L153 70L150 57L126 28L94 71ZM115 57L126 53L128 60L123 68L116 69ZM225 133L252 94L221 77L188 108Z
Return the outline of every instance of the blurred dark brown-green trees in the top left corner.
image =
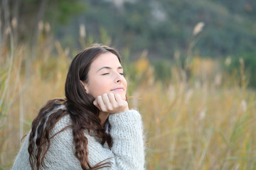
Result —
M86 6L80 0L3 0L0 1L1 36L4 42L6 29L11 26L18 41L28 40L34 47L38 38L40 22L48 25L68 23L71 16L81 13ZM15 24L15 26L13 26ZM39 25L39 26L38 26ZM41 26L43 26L41 24Z

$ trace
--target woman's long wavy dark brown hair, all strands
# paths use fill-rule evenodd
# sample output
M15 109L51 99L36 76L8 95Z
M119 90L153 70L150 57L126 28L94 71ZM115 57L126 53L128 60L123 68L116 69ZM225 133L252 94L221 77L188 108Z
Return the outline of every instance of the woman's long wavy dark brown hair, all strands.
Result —
M92 47L78 53L70 64L65 81L66 98L48 101L33 120L28 143L29 162L32 169L40 169L40 166L46 166L44 158L50 148L50 139L57 135L50 137L50 130L64 115L70 115L72 120L72 125L63 128L63 130L66 128L73 129L74 154L80 161L82 169L101 169L111 165L110 162L103 163L105 161L103 160L95 166L91 166L88 160L88 141L84 135L85 130L88 131L89 135L92 135L91 131L96 132L94 133L96 134L95 137L101 140L101 144L104 145L107 142L110 148L112 147L112 138L100 125L100 111L92 103L95 98L85 92L80 82L89 81L90 65L99 55L106 52L112 52L121 62L119 53L107 46L92 45ZM65 107L61 107L63 105ZM63 130L60 130L60 132Z

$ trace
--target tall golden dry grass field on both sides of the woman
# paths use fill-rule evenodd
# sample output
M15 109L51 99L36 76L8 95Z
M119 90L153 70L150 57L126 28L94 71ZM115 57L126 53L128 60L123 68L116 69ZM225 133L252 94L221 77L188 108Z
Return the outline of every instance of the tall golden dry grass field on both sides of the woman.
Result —
M39 108L64 96L71 56L58 42L41 44L34 61L28 60L25 45L12 52L9 71L11 49L1 49L0 169L11 167ZM137 75L130 79L128 70L127 79L129 95L137 97L130 104L144 120L147 169L256 169L255 91L218 72L218 62L200 57L192 59L191 77L177 64L170 70L171 81L164 83L155 81L145 57L129 68Z

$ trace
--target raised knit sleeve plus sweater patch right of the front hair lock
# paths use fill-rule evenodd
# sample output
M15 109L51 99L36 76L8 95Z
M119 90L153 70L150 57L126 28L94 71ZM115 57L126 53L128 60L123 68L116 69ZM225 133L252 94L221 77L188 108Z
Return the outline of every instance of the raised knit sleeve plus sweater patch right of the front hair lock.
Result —
M94 137L87 137L89 161L93 164L107 160L112 162L110 169L144 169L144 142L141 115L134 110L110 114L110 135L112 149L102 147Z

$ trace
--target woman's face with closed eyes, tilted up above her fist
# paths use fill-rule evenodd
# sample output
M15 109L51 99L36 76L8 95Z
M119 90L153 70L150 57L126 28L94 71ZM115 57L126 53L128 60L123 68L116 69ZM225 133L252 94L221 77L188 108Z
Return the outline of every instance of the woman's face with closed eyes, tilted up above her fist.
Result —
M99 55L90 65L89 81L83 84L86 93L94 98L102 94L119 94L125 100L127 81L123 73L116 55L111 52Z

